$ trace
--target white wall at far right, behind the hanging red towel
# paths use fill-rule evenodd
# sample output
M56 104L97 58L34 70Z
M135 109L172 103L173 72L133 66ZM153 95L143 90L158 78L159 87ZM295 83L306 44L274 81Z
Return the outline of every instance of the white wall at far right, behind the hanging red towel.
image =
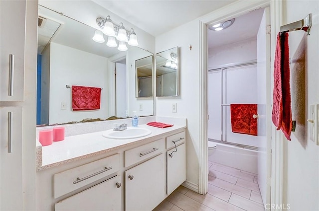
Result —
M303 19L308 13L313 18L311 35L289 32L293 120L297 119L297 131L292 133L291 141L284 140L284 197L291 211L319 210L319 146L310 140L311 125L306 121L310 117L309 106L319 103L319 1L287 0L283 24ZM306 82L300 80L303 77Z

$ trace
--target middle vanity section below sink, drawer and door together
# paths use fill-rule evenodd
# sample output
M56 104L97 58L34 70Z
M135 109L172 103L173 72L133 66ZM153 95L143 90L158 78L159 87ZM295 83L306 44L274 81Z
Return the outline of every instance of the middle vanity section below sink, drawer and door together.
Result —
M151 211L166 197L163 139L125 151L126 163L140 162L125 171L125 210Z

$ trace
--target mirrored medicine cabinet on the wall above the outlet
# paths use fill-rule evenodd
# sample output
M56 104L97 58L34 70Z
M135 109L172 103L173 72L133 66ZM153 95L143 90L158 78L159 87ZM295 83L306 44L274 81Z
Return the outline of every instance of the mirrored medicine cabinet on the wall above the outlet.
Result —
M156 54L156 96L172 97L179 94L178 47Z

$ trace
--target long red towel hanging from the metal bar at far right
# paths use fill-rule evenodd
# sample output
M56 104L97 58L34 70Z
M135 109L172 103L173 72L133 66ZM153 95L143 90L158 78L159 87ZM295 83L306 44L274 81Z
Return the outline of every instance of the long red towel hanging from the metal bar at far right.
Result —
M272 121L281 129L290 141L293 128L291 95L290 95L290 65L288 32L278 33L274 64L274 102Z

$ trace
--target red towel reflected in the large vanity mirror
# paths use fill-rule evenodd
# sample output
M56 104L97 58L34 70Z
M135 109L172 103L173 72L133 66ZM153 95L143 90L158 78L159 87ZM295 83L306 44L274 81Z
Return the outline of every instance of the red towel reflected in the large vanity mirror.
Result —
M72 110L100 109L101 88L88 86L72 86Z

